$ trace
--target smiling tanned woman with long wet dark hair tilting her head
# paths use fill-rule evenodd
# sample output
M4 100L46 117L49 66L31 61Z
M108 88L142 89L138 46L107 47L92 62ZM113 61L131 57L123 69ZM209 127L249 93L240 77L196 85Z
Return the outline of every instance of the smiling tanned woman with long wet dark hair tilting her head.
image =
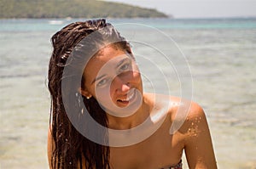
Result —
M77 22L51 40L50 168L182 168L183 149L189 168L217 168L201 107L143 93L130 45L112 25Z

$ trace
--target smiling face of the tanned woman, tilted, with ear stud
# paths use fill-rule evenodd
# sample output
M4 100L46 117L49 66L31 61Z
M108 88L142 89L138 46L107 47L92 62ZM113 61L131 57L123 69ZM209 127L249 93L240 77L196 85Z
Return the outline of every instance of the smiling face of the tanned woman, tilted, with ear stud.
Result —
M132 115L141 106L143 85L135 60L112 46L103 48L84 69L84 96L93 96L113 115Z

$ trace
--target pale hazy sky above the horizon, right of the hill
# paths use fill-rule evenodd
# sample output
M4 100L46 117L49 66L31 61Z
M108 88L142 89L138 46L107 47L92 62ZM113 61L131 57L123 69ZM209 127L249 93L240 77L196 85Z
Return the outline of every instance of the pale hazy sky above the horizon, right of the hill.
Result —
M155 8L174 18L256 17L256 0L108 0Z

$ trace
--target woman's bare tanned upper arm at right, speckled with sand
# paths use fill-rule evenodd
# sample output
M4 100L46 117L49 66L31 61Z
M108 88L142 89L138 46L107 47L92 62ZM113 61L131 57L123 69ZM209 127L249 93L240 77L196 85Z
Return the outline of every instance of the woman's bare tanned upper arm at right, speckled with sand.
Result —
M184 127L189 168L217 168L207 118L198 104L192 104Z

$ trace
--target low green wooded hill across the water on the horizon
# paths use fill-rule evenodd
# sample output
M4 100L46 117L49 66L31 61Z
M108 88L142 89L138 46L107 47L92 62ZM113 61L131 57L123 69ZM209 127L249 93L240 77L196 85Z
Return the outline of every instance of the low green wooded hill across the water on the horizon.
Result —
M166 18L153 8L97 0L0 0L0 19Z

